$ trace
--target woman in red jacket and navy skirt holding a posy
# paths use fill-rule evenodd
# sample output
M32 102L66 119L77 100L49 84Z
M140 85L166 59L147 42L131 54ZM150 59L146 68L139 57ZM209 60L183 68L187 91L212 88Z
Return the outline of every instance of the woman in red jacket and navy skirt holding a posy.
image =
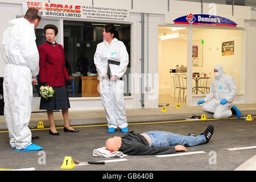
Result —
M50 129L52 135L59 135L55 128L53 120L53 110L62 111L64 119L64 131L78 132L69 126L68 108L70 108L65 81L68 85L71 84L68 72L65 67L65 57L63 46L55 42L58 28L53 24L44 26L47 42L40 45L39 51L39 78L41 85L52 86L55 93L53 97L47 100L41 97L40 109L47 110Z

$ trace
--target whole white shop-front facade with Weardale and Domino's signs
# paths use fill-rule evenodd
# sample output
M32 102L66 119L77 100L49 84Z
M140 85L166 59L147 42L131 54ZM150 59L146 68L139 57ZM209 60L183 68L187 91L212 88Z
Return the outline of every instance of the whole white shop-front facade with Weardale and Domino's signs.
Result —
M56 41L64 46L66 65L73 79L73 85L69 88L71 110L104 109L97 90L97 73L89 64L93 63L97 43L102 41L103 26L109 22L115 24L129 52L124 93L126 109L157 108L166 102L170 105L183 102L183 90L181 101L177 101L177 98L174 101L174 73L170 73L170 70L176 69L176 65L187 68L184 105L195 106L207 93L198 91L196 94L193 73L205 73L210 84L216 64L222 64L225 73L236 80L239 94L235 103L256 103L256 96L247 83L256 80L256 67L250 67L256 61L253 58L254 49L250 47L256 42L253 34L256 24L252 20L256 15L251 7L234 6L232 15L232 6L216 5L216 15L212 15L209 3L203 3L202 9L201 3L164 0L150 3L147 0L123 0L118 4L101 0L75 0L72 3L11 0L0 1L0 5L2 17L5 17L0 20L1 39L9 20L23 16L30 6L42 12L42 22L36 28L38 45L45 41L43 27L46 24L55 24L59 28ZM196 22L199 20L191 23L191 19L186 19L189 15L195 19L200 17L201 23ZM183 21L180 22L179 18L183 18ZM225 24L225 20L234 24ZM176 30L172 31L172 28ZM179 36L161 40L164 34ZM222 55L225 52L223 48L229 43L233 51L229 55ZM79 64L81 56L82 60L88 61L87 66ZM5 64L0 61L3 65L0 76L3 76ZM256 85L250 84L250 88L256 89ZM176 97L177 94L176 91ZM40 97L34 88L33 111L40 111L39 102Z

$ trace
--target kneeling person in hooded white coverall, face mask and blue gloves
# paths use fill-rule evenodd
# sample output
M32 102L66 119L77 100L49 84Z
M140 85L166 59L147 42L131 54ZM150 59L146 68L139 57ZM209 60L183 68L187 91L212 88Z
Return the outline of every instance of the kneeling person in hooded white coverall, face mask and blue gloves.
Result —
M197 102L197 105L203 104L203 110L208 113L214 113L214 118L229 118L232 114L241 117L241 111L236 106L232 106L232 101L237 95L237 86L234 78L225 75L221 65L214 67L215 79L210 84L210 92L204 98ZM230 106L232 106L230 108ZM230 109L229 109L230 108Z

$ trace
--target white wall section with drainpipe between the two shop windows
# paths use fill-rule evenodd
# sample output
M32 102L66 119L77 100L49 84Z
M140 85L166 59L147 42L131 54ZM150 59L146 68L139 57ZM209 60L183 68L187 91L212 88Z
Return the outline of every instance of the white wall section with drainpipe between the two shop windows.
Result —
M141 73L141 14L131 13L130 20L133 22L132 52L133 60L131 67L133 73ZM148 54L147 54L147 15L144 15L144 87L147 85L146 74L148 65L148 87L150 91L144 91L145 108L158 107L158 26L164 24L164 16L158 14L150 14L148 16ZM147 56L148 55L148 56ZM148 64L147 64L148 63ZM141 78L133 79L133 97L134 107L141 108ZM139 87L139 88L138 88Z

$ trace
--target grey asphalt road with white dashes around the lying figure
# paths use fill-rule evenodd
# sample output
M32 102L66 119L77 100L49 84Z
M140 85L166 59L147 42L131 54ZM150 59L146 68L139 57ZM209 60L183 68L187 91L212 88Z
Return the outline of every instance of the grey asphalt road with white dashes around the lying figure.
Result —
M17 152L10 148L9 133L0 133L0 168L20 169L34 168L35 171L233 171L246 160L256 155L256 148L245 150L228 150L228 148L256 146L256 122L243 119L217 119L207 121L171 121L159 123L133 123L130 131L143 133L150 130L164 130L187 135L203 133L209 124L214 126L214 134L207 144L187 147L187 152L159 158L155 155L126 156L122 161L104 165L88 164L72 169L61 169L65 156L72 160L100 161L121 158L96 158L93 150L105 146L106 139L122 136L118 129L109 134L106 125L77 126L79 133L64 133L57 129L59 136L49 135L48 130L32 130L40 138L33 143L43 147L42 151ZM104 177L104 176L100 176ZM105 177L108 177L107 175ZM109 176L111 177L111 176ZM113 177L113 176L112 176ZM127 176L126 176L127 177Z

